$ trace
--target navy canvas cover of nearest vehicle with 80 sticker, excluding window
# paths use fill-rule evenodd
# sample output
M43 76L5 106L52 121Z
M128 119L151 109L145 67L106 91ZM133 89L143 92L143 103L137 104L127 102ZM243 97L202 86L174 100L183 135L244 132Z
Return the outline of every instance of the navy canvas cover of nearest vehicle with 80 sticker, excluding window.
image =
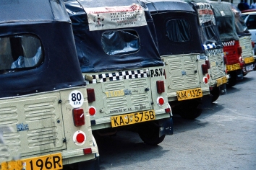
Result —
M33 35L39 38L41 49L38 50L43 53L43 61L36 68L1 70L0 97L85 85L70 19L62 1L1 1L0 11L1 39L13 35Z

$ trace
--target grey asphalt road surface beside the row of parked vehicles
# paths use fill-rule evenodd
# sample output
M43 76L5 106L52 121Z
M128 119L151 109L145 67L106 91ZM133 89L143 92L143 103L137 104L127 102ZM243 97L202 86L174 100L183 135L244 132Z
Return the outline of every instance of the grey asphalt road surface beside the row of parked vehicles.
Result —
M127 131L98 138L101 169L256 169L256 71L200 108L195 120L174 115L158 146Z

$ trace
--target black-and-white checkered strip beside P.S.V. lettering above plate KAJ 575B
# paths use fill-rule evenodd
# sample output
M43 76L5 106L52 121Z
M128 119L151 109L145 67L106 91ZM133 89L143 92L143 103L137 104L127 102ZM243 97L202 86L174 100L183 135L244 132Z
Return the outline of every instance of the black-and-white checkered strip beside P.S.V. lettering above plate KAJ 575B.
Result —
M121 71L116 73L102 73L92 75L93 81L89 81L89 84L96 84L98 82L116 81L123 79L137 79L148 76L148 69L136 70L136 71Z

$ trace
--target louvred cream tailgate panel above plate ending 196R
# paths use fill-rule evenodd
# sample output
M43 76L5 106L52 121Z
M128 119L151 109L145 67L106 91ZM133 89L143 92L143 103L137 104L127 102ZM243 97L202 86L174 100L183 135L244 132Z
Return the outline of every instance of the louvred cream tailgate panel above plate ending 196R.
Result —
M63 125L57 123L63 122L59 96L55 92L0 101L0 125L8 127L3 132L4 144L0 144L7 153L0 161L66 148Z

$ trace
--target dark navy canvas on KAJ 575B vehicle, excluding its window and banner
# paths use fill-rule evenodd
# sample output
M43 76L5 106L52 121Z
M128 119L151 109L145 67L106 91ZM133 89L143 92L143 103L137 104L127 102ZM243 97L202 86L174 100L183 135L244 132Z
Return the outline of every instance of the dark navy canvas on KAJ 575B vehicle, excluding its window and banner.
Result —
M77 55L82 72L121 71L130 68L163 66L163 62L161 61L157 44L155 42L156 35L153 27L153 20L148 11L145 10L145 25L121 28L114 27L112 29L93 31L89 29L86 9L98 7L105 8L106 6L130 6L134 3L138 4L138 1L67 0L64 1L64 3L69 17L72 20L74 40L76 42ZM104 22L105 21L106 19ZM103 46L106 44L102 41L103 34L106 32L112 32L111 35L114 37L119 31L128 32L127 34L137 32L136 36L139 37L139 50L135 53L119 53L116 55L109 55L104 52ZM111 46L111 48L115 48L114 45Z

